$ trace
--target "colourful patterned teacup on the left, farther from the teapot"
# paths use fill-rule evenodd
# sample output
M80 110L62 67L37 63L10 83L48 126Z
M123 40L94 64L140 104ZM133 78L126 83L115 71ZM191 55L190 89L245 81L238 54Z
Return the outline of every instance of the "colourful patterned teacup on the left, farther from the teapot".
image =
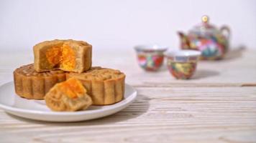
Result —
M163 65L164 52L168 49L167 46L140 45L134 47L137 52L137 60L146 71L157 71Z

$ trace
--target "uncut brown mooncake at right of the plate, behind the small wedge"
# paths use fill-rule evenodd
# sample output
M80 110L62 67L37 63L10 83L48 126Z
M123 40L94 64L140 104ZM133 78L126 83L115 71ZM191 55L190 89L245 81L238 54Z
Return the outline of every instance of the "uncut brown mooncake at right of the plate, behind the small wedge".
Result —
M125 74L116 69L92 67L81 74L70 72L67 79L76 77L86 87L93 105L107 105L124 98Z

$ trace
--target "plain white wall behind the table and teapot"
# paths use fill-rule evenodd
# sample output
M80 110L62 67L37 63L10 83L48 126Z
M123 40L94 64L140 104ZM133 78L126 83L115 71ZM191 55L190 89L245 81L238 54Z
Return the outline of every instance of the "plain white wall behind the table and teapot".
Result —
M50 39L81 39L94 49L178 48L176 31L191 29L204 14L216 26L230 26L233 47L256 49L253 0L0 0L0 50L31 50Z

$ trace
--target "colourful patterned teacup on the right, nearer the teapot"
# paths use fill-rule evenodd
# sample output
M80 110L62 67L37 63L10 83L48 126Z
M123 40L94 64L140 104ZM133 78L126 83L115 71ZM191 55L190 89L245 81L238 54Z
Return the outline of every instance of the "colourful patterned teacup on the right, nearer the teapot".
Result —
M201 51L179 50L168 51L167 66L176 79L190 79L196 71L196 64L201 56Z

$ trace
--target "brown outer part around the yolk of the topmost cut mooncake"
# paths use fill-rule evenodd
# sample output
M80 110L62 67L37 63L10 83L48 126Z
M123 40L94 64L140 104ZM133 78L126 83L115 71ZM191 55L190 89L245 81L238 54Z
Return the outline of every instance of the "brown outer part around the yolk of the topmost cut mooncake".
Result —
M71 69L66 69L63 67L52 66L50 61L48 61L46 53L47 50L52 47L61 47L64 44L68 44L70 48L75 53L76 65ZM39 44L36 44L33 47L34 51L34 64L35 70L37 72L50 71L52 69L62 69L63 71L73 71L73 72L83 72L91 68L91 58L92 58L92 46L91 44L86 43L86 41L76 41L72 39L68 40L52 40L52 41L43 41ZM53 54L54 55L54 54ZM56 54L58 55L58 54Z

